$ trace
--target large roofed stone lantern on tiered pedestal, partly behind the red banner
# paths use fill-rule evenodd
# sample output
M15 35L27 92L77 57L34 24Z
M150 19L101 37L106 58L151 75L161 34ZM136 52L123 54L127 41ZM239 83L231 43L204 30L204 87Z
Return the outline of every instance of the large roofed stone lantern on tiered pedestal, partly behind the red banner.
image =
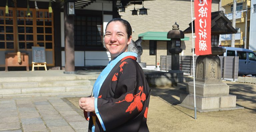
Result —
M223 11L212 12L210 55L199 55L196 59L195 95L199 112L240 109L236 96L229 95L229 86L221 80L220 58L226 50L218 46L219 34L236 33ZM194 23L194 22L193 22ZM191 33L190 27L184 33ZM180 95L181 106L194 109L194 82L189 82L187 93Z

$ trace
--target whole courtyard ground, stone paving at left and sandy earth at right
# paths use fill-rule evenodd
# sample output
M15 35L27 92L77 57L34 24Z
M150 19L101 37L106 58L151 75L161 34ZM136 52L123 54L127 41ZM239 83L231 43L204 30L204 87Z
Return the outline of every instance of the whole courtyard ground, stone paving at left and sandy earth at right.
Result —
M230 94L237 96L236 104L244 109L197 112L196 120L193 110L177 105L186 83L174 88L152 88L147 120L150 132L254 132L256 85L225 83L230 86ZM0 132L86 132L88 121L77 106L80 97L2 98Z

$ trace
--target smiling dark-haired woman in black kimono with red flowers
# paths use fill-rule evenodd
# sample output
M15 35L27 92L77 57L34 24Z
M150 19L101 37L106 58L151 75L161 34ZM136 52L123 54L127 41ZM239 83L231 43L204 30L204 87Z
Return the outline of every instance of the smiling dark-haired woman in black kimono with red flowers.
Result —
M150 88L137 54L128 51L132 40L130 24L112 19L106 27L104 42L111 61L97 78L92 96L79 100L89 132L147 132ZM88 113L89 114L88 114Z

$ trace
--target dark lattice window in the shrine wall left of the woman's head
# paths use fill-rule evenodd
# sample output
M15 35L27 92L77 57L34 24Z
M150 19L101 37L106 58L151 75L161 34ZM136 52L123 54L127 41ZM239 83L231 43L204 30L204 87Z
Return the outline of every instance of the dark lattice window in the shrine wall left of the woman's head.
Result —
M75 16L75 46L102 47L102 17Z

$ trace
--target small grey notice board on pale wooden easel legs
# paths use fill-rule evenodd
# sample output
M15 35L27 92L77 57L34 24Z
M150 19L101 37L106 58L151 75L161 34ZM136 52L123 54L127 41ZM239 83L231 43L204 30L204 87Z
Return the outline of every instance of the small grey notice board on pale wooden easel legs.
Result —
M44 47L32 46L32 57L32 71L34 71L35 67L37 67L37 70L39 70L39 67L44 67L45 71L47 71Z

